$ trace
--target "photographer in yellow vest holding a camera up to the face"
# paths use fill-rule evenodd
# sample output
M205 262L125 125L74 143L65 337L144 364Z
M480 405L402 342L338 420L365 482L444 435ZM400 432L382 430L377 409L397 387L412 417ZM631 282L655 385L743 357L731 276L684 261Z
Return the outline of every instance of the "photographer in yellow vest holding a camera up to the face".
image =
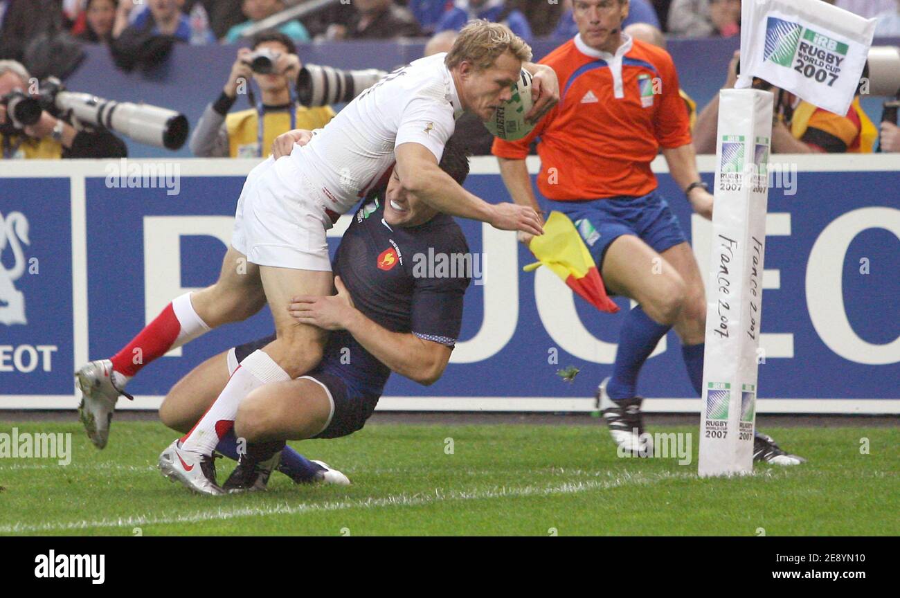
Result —
M263 157L276 137L292 129L321 129L335 112L329 105L306 108L297 102L294 81L300 58L288 36L279 31L260 31L251 49L238 49L222 93L209 104L191 137L194 156ZM256 98L251 83L260 97ZM253 108L228 113L247 94Z

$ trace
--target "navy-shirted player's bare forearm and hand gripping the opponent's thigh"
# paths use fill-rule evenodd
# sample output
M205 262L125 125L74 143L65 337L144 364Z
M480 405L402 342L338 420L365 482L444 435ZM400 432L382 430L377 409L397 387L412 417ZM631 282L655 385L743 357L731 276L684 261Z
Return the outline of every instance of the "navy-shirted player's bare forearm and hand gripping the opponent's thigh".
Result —
M375 359L401 376L426 386L437 382L450 361L450 347L379 326L353 306L339 276L335 287L338 294L331 297L294 297L288 311L301 324L347 330Z

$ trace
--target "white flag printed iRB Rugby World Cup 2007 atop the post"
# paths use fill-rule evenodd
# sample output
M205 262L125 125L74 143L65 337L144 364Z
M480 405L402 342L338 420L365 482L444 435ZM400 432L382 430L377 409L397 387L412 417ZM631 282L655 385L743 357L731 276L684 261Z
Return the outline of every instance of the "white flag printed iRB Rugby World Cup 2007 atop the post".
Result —
M747 0L736 87L748 88L758 76L824 110L846 114L875 23L822 0Z

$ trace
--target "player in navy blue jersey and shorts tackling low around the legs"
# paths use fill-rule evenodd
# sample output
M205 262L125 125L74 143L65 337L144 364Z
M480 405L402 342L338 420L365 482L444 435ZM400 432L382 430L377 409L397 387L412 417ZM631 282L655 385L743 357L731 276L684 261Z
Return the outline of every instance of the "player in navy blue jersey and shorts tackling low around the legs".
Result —
M469 171L464 150L448 143L440 167L462 184ZM463 232L452 217L404 192L396 171L386 188L369 197L334 257L337 294L295 297L288 308L298 322L332 331L322 361L301 378L266 384L241 401L233 434L217 448L237 457L238 445L244 445L237 439L242 439L246 450L223 486L216 484L212 461L203 464L208 483L199 487L207 488L206 494L265 488L275 467L297 482L348 483L343 474L306 460L285 441L356 432L372 415L391 371L425 385L444 372L462 326L470 272L455 269L452 277L438 277L439 270L416 264L429 254L472 263L464 258L469 248ZM272 338L220 353L191 371L161 406L163 423L186 432L240 361ZM176 472L184 466L176 444L160 455L159 467L180 480ZM201 491L198 485L186 486Z

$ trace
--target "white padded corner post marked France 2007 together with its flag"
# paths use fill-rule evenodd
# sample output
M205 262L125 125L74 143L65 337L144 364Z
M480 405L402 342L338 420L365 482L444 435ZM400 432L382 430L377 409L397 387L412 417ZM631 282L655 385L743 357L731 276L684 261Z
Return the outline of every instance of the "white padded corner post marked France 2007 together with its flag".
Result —
M741 23L741 73L719 94L700 476L753 469L773 106L752 78L846 114L876 20L819 0L753 0L741 5Z

